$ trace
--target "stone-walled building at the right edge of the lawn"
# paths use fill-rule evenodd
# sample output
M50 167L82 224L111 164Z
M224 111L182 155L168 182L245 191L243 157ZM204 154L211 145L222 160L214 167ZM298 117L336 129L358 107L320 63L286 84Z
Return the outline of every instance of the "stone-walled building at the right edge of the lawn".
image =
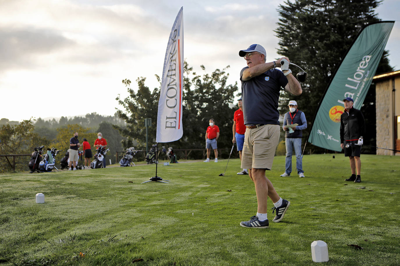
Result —
M400 70L374 76L376 83L376 146L400 150ZM400 152L376 149L379 155Z

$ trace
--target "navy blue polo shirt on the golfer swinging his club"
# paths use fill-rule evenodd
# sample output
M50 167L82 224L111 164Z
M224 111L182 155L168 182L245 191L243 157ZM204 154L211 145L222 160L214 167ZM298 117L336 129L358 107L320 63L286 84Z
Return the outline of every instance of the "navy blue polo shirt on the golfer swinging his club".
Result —
M240 81L247 68L240 71ZM283 72L274 68L242 81L244 124L279 125L278 100L281 88L287 84L288 79Z

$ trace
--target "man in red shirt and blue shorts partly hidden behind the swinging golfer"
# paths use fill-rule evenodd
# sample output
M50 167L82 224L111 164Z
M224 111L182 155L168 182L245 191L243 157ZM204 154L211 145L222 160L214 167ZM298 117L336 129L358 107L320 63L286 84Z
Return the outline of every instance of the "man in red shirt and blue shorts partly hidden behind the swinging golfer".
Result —
M235 111L233 115L233 126L232 133L233 139L232 143L236 142L236 149L239 152L240 161L242 161L242 150L243 150L243 142L244 142L244 132L246 132L246 126L244 126L243 119L243 106L242 106L242 98L238 100L239 109ZM237 173L238 175L247 175L247 169L242 169L241 172Z

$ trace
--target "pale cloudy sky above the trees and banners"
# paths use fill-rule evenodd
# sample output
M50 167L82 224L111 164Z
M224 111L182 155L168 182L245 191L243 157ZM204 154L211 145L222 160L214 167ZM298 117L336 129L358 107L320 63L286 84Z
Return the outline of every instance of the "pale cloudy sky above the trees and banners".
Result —
M259 43L276 53L284 1L253 0L0 0L0 118L113 115L128 96L123 79L146 77L153 90L172 24L183 6L184 58L198 74L228 65L228 84L246 66L238 51ZM384 0L382 20L400 17L400 1ZM386 49L400 69L400 21ZM294 62L296 63L296 62ZM206 67L205 71L200 65ZM295 71L296 72L296 71Z

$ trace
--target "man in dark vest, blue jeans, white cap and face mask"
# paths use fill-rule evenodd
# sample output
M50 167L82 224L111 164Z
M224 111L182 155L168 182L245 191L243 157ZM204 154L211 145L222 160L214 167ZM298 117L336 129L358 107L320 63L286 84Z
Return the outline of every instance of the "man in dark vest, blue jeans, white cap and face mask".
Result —
M292 172L292 152L296 154L296 168L299 177L304 177L302 151L301 151L301 138L303 136L303 129L307 128L307 120L304 112L297 109L297 102L291 100L288 104L289 112L283 118L283 130L285 133L286 145L286 170L280 176L289 176ZM297 126L293 126L298 124Z

